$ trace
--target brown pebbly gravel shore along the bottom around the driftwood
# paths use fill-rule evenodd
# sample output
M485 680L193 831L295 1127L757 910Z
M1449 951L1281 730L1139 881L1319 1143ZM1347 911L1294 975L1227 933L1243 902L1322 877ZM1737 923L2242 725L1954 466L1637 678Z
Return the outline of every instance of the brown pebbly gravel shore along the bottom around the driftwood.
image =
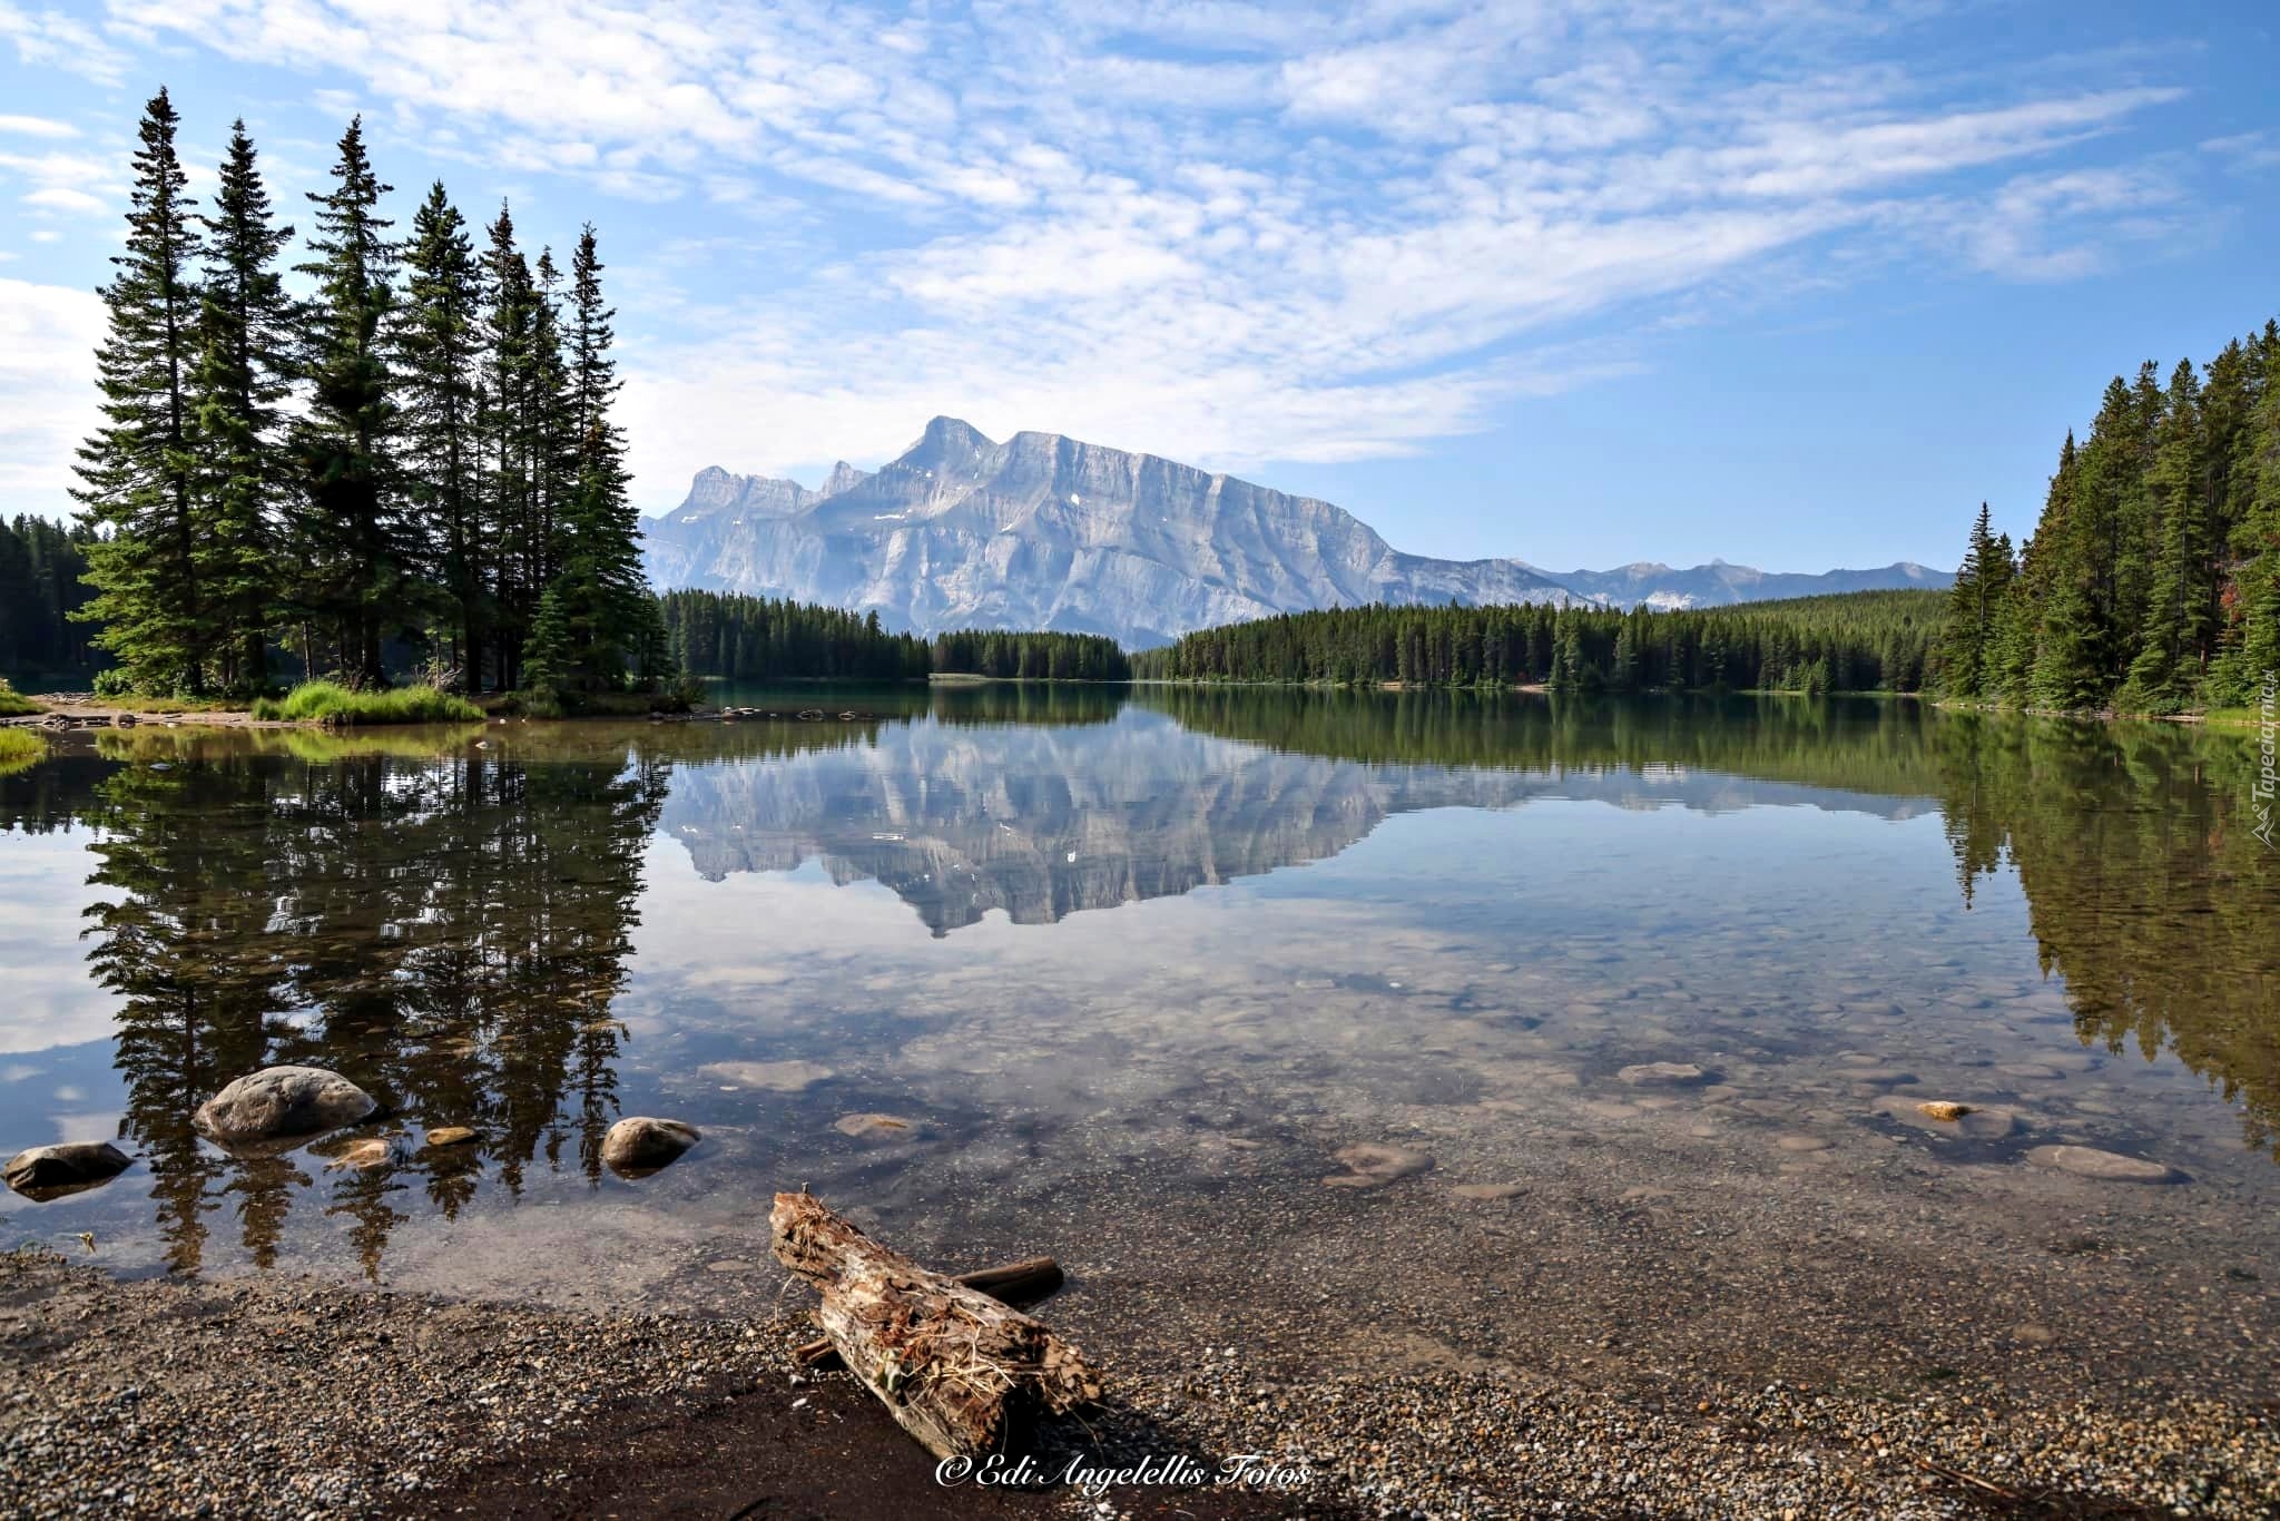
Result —
M800 1377L798 1298L748 1318L449 1302L315 1279L121 1282L0 1256L0 1514L2269 1516L2280 1412L2223 1398L1911 1398L1509 1368L1270 1377L1088 1348L1113 1402L1047 1471L1231 1453L1293 1491L935 1485L844 1380ZM1106 1507L1106 1510L1104 1510Z

